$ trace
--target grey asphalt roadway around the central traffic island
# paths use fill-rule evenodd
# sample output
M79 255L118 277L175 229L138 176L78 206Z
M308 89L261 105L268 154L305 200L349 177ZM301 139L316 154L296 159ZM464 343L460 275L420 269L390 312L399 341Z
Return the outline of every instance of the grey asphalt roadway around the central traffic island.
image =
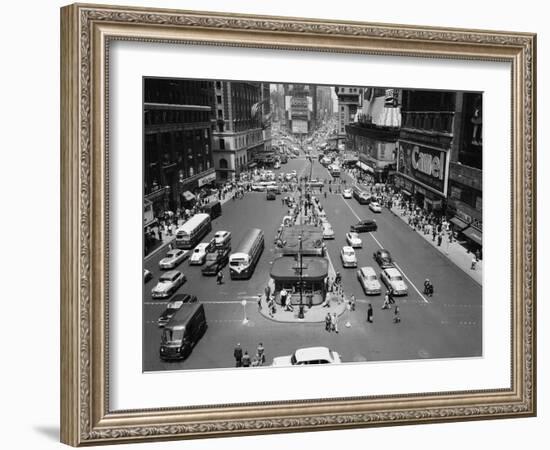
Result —
M332 179L315 156L312 161L305 156L289 159L274 172L296 170L298 176L309 176L311 171L313 178ZM348 186L353 183L344 171L341 180L346 180ZM222 215L213 220L212 232L202 239L208 241L216 231L228 230L235 248L247 229L262 229L265 249L250 280L231 280L226 266L224 283L218 285L215 277L201 274L201 266L190 266L184 261L177 267L187 277L177 292L196 295L205 306L208 322L204 337L181 362L164 362L159 357L161 329L157 319L167 300L151 298L151 289L162 272L158 262L168 248L145 260L144 267L151 271L153 279L143 287L144 371L233 367L233 349L237 342L251 356L262 342L266 364L271 364L274 357L309 346L335 350L345 363L482 356L481 285L387 208L374 214L368 205L344 199L338 193L328 193L326 199L323 195L314 195L320 199L335 232L334 240L325 241L328 257L335 270L342 274L346 297L356 297L356 310L346 311L339 318L338 334L326 332L324 323L281 323L261 314L257 300L269 280L276 257L276 231L288 210L281 202L281 196L285 195L267 201L264 192L246 192L242 199L229 200L222 207ZM358 267L372 266L379 273L372 255L377 249L385 248L391 252L409 286L408 296L396 297L401 313L401 322L397 324L393 323L393 310L381 310L383 294L367 297L357 280L356 269L345 269L341 264L339 254L342 246L347 245L346 232L350 225L365 218L374 218L378 231L361 234L363 247L356 250ZM426 278L435 286L435 294L430 298L422 294ZM243 300L247 301L245 307L241 304ZM374 308L373 323L366 322L369 302ZM244 317L248 319L246 324L243 324ZM351 327L344 326L347 320Z

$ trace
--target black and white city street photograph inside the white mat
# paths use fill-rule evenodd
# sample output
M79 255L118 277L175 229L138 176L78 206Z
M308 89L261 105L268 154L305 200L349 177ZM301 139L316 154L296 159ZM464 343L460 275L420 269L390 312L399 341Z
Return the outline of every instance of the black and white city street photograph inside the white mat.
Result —
M481 92L143 80L143 370L483 356Z

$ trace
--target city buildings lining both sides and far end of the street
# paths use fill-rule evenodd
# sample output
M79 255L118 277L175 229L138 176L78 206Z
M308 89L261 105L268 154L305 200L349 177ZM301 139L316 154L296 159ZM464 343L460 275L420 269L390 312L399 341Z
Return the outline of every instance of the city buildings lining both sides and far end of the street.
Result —
M481 245L475 92L146 78L145 199L155 213L176 209L204 186L270 164L271 121L302 139L331 119L333 148L353 152L360 170L424 209L445 210Z

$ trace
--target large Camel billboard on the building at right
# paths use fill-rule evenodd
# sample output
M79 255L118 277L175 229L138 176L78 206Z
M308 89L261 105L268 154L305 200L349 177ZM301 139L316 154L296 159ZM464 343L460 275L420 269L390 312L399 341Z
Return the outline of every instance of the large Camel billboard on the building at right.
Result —
M398 173L444 197L447 195L447 150L400 141L398 153Z

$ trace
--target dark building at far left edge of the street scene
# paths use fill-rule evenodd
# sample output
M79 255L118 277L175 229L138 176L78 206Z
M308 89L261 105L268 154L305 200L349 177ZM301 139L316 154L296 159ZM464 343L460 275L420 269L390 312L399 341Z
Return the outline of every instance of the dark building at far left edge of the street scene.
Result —
M155 216L215 180L211 81L144 80L144 195Z

